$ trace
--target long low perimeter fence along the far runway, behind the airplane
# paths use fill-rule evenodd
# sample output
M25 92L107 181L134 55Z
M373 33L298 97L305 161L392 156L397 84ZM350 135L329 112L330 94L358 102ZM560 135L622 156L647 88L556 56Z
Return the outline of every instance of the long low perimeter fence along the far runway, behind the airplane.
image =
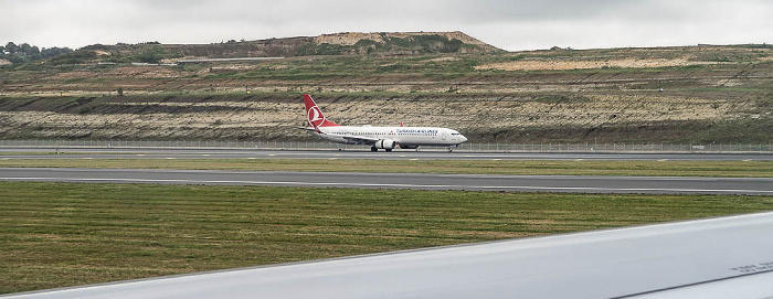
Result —
M0 148L50 149L258 149L258 150L352 150L367 151L368 146L339 145L324 141L218 141L218 140L0 140ZM445 147L422 147L421 151L447 150ZM467 142L453 148L460 152L608 152L608 153L773 153L772 143L478 143Z

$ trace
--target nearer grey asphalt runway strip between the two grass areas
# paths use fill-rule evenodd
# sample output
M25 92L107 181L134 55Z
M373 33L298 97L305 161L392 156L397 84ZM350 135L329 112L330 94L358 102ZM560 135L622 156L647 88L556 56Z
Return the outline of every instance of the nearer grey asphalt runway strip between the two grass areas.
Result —
M773 195L773 178L483 175L288 171L0 168L0 181L279 185L572 193Z

